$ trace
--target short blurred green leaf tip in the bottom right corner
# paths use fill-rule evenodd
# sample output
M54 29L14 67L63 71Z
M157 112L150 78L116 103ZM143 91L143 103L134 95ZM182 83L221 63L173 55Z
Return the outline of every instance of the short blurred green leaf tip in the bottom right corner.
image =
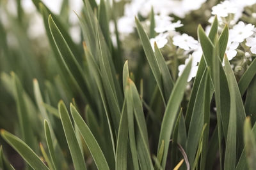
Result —
M244 122L244 144L248 169L256 169L256 139L251 131L250 118Z

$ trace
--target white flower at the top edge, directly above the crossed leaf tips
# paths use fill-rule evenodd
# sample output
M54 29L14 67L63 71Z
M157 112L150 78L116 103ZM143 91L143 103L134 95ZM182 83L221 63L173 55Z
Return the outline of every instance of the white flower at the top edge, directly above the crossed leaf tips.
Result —
M212 15L218 15L219 17L228 17L228 14L236 13L237 7L230 1L223 1L220 4L212 7Z

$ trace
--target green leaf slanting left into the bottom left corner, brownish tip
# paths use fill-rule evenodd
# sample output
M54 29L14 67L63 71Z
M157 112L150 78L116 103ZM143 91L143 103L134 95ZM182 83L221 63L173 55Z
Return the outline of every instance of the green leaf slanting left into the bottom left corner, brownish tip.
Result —
M33 152L26 143L24 143L24 141L3 129L1 130L1 136L21 155L24 160L26 160L26 162L28 162L29 166L33 167L33 169L49 170L36 153Z

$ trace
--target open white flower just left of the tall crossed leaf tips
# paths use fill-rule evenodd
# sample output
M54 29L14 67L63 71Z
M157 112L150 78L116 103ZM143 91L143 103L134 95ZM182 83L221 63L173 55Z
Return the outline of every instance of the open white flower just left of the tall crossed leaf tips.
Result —
M184 50L191 50L198 48L198 41L188 36L188 34L182 34L173 37L173 45L179 46Z

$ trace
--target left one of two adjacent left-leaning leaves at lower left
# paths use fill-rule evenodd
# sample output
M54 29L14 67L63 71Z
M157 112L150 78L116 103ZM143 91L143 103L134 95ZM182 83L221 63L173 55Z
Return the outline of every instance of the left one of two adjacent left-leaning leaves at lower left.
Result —
M63 101L59 102L58 110L60 113L61 124L62 124L64 132L65 132L65 136L66 136L67 143L68 143L68 148L71 153L74 167L75 167L75 169L78 169L78 170L80 170L80 169L84 170L84 169L86 169L86 166L85 166L85 162L83 159L83 154L80 150L79 143L77 141L76 134L74 131L74 127L72 125L72 122L68 115L67 108L66 108L65 104L63 103Z

